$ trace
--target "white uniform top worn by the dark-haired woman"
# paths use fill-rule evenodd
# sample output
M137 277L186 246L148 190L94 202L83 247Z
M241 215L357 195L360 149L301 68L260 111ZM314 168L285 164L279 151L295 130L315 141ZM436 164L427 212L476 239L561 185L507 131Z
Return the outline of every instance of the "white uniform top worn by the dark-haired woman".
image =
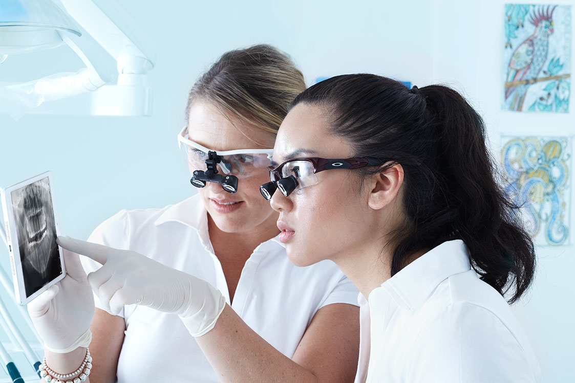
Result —
M511 308L471 269L461 240L435 247L358 300L356 382L540 380Z

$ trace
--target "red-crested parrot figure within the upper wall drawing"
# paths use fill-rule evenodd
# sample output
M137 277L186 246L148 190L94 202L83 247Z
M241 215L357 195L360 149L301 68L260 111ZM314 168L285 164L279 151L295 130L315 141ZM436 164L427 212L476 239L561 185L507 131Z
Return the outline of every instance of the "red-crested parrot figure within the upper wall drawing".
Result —
M535 26L535 32L526 38L519 47L515 49L509 65L507 66L506 82L527 81L527 84L507 87L505 89L505 100L513 96L511 110L521 111L528 87L534 81L547 60L549 52L549 37L553 34L553 11L554 6L547 6L547 9L540 8L534 11L529 22Z

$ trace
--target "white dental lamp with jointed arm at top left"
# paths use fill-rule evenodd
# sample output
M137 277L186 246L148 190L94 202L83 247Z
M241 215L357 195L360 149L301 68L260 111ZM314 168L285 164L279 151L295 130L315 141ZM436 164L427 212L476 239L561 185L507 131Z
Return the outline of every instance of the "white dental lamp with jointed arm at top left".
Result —
M17 119L45 101L90 94L87 114L151 115L154 43L115 0L0 0L0 63L62 44L86 67L0 87L0 111Z

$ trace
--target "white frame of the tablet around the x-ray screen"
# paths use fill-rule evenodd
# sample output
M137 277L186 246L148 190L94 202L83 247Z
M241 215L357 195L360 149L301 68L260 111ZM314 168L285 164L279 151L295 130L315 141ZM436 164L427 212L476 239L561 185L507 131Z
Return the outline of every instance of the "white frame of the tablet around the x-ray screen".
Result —
M22 272L22 263L21 263L21 256L20 256L20 242L18 241L18 230L16 229L16 220L14 219L14 209L12 206L12 192L25 187L26 185L32 184L36 181L40 181L48 177L48 183L50 185L50 196L52 199L52 210L54 214L54 226L56 227L56 236L60 235L60 225L58 221L58 215L56 210L56 203L54 198L54 187L52 181L52 173L45 172L35 177L32 177L28 180L22 181L17 183L16 185L12 185L7 187L3 190L0 190L1 199L2 199L2 211L4 213L4 225L6 229L6 239L9 246L10 252L10 266L12 268L12 276L14 281L14 293L16 296L16 301L21 304L25 305L32 301L35 297L39 296L43 293L47 288L52 286L53 284L58 283L66 276L66 268L64 267L64 256L62 247L57 246L58 253L60 256L60 265L62 266L62 274L54 278L53 280L49 281L45 284L42 288L38 291L34 292L29 297L26 297L26 289L24 286L24 277Z

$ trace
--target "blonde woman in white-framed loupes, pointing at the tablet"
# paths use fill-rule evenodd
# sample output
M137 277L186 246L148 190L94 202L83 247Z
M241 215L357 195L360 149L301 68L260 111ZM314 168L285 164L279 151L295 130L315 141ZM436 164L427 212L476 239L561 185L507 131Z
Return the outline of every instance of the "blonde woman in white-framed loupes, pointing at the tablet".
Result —
M277 129L304 89L301 72L268 45L227 52L201 76L178 136L199 194L118 212L89 238L120 250L60 239L99 263L83 260L86 277L66 252L68 276L29 305L48 380L353 380L358 291L331 261L290 263L259 191Z

